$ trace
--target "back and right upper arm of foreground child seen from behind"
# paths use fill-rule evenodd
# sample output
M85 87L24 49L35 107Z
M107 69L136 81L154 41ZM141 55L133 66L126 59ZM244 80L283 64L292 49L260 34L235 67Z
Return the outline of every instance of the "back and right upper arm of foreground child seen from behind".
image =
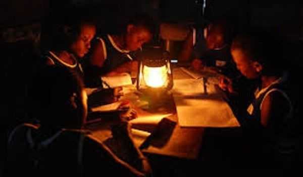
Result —
M141 173L126 161L122 165L119 157L111 155L110 148L88 131L58 129L47 136L41 136L39 131L39 126L25 123L10 132L7 148L10 176L20 171L26 176L91 176L96 169L100 175L137 176L134 170Z

